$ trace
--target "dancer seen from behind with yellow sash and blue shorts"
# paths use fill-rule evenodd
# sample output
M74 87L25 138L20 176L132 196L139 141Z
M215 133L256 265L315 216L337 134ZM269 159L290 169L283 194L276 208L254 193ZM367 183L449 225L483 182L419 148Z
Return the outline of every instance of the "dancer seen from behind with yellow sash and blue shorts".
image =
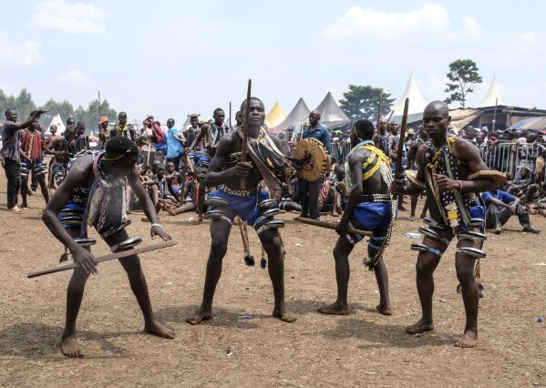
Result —
M391 315L388 299L388 275L383 253L390 239L392 224L396 217L396 205L388 193L393 180L389 158L374 147L374 125L368 120L358 120L351 132L353 149L345 163L345 179L350 190L345 211L337 224L339 239L335 244L335 279L337 300L318 309L325 314L346 315L349 313L347 287L349 284L349 254L363 237L347 232L349 226L374 233L368 242L369 259L366 265L376 272L379 287L377 311ZM351 187L352 186L352 187Z

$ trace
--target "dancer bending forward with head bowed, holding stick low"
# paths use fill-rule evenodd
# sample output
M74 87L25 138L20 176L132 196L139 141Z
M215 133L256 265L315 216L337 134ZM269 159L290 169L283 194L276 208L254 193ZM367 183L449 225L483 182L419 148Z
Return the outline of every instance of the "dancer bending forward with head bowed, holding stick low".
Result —
M66 179L44 210L42 220L46 227L70 250L74 261L79 264L68 283L67 317L60 344L61 352L68 357L83 356L82 347L77 342L77 313L89 274L97 273L97 264L91 251L78 245L74 239L87 238L87 225L93 225L112 250L120 242L128 240L125 227L129 225L129 220L126 209L121 204L125 201L125 188L129 183L151 222L151 238L160 236L163 240L170 240L170 236L161 228L153 204L135 172L138 157L137 146L129 138L121 136L108 141L106 152L100 150L80 154L78 158L71 160ZM98 196L98 200L95 200L95 196ZM84 216L81 229L65 229L62 222L63 213L67 209L73 212L82 209L86 211L88 216ZM99 217L103 210L108 213L106 219ZM139 302L144 316L144 331L164 338L174 338L174 332L158 322L154 316L139 257L129 256L119 259L119 262L127 272L131 290Z

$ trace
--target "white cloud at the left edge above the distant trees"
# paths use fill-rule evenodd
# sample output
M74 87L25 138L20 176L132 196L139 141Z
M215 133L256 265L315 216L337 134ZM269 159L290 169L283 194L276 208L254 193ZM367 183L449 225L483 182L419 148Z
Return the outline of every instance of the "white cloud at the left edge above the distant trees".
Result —
M0 66L33 66L42 60L40 42L12 42L5 31L0 31L0 58Z

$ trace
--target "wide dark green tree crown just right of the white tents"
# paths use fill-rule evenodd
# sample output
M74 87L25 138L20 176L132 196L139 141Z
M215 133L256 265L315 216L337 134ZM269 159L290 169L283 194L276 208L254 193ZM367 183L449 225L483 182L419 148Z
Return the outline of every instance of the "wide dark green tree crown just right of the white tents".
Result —
M339 104L348 117L376 120L379 96L381 96L381 116L386 116L395 99L389 98L391 95L381 87L349 85L349 91L343 94L345 99L340 99Z

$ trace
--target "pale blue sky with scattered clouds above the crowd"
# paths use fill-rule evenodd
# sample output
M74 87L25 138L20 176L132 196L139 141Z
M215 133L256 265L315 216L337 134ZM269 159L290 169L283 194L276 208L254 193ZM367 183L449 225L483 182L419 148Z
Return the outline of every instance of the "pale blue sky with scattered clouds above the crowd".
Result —
M38 105L87 107L100 91L129 120L228 116L230 101L234 116L252 78L266 111L278 102L288 114L350 84L400 97L412 72L433 101L447 97L449 63L472 59L483 83L469 107L496 77L505 104L546 108L539 0L19 0L5 12L0 88L26 87Z

